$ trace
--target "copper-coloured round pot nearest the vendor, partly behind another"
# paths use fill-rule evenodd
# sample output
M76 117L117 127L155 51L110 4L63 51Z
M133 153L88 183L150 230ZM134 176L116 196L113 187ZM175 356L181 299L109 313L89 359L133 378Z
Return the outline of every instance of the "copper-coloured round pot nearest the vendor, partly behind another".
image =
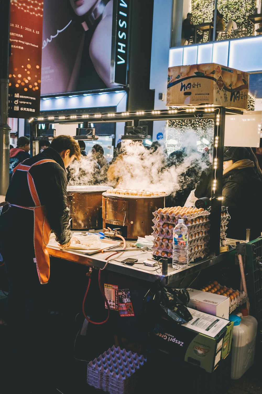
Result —
M109 186L68 186L67 204L72 229L102 229L102 193Z

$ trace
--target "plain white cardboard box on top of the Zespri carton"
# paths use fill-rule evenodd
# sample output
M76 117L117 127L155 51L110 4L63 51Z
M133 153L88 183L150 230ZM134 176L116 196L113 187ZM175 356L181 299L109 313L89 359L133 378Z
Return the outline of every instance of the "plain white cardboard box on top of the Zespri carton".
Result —
M222 319L229 318L229 297L202 292L201 290L187 289L190 296L188 306L201 312L218 316Z

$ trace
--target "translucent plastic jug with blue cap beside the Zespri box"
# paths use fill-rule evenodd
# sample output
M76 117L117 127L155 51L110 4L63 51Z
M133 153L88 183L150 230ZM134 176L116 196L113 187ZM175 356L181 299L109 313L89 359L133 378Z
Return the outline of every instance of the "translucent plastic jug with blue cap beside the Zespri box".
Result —
M247 309L229 316L229 320L234 322L231 379L239 379L254 364L257 320L247 315Z

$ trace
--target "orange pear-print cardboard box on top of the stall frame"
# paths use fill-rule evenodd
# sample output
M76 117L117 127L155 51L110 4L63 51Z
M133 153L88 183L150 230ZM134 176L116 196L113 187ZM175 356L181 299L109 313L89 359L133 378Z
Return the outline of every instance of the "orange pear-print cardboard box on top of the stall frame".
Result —
M249 74L216 63L169 67L167 106L247 109Z

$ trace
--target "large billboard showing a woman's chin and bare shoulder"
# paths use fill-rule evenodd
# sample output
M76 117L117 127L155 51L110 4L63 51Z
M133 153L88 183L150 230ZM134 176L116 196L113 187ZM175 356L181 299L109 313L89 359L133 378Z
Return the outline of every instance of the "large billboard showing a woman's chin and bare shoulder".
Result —
M112 83L111 61L112 27L113 37L117 36L115 24L119 23L117 6L122 19L127 18L127 0L44 1L41 95L118 86ZM127 50L117 41L114 45L113 40L113 50Z

